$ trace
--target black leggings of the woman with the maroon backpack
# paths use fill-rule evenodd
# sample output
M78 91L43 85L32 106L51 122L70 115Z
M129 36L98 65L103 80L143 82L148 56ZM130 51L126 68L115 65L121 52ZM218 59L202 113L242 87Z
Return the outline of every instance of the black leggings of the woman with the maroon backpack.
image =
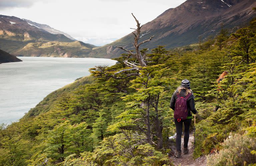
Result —
M174 118L174 123L176 126L176 149L178 152L181 152L181 134L182 134L182 125L184 123L184 148L188 147L188 139L189 139L189 126L191 124L192 119L184 119L180 122Z

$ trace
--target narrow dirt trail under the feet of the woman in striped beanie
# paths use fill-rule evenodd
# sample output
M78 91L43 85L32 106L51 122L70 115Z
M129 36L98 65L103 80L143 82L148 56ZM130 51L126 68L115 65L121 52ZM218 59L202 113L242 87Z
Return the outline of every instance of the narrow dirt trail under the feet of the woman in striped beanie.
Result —
M193 151L194 151L194 135L193 133L189 134L188 140L188 154L183 154L183 136L181 137L181 158L176 158L175 156L170 157L175 166L206 166L206 157L200 157L196 160L193 159Z

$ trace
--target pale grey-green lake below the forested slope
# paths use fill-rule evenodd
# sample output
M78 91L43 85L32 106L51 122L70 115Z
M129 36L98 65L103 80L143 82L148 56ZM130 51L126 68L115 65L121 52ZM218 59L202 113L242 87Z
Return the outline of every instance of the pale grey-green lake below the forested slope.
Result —
M23 62L0 64L0 124L17 121L52 91L90 75L89 68L116 63L103 58L18 58Z

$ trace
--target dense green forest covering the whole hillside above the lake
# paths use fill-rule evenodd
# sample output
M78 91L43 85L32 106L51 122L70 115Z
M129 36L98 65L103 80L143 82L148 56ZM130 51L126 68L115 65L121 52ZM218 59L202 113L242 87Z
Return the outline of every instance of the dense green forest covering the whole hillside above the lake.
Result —
M170 99L183 79L199 112L194 159L256 165L256 18L198 44L138 48L121 48L114 66L91 68L19 122L1 124L0 165L173 165Z

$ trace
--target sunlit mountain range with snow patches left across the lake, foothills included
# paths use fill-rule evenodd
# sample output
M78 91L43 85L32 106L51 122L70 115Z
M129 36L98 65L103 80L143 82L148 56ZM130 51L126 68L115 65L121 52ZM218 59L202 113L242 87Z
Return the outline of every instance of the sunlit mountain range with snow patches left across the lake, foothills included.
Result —
M48 25L0 15L0 49L15 56L86 57L95 47Z

